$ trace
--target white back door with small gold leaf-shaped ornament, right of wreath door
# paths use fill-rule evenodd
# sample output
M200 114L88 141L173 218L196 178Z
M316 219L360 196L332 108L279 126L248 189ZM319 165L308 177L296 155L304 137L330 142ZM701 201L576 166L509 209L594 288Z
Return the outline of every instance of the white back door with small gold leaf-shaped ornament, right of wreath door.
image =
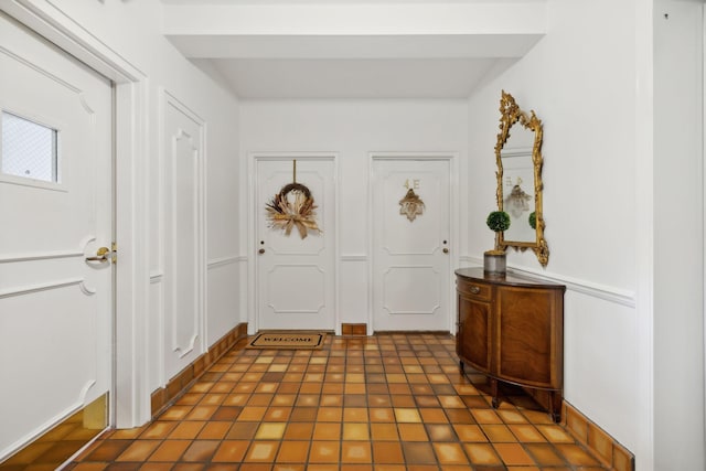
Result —
M373 160L373 329L451 331L449 161Z

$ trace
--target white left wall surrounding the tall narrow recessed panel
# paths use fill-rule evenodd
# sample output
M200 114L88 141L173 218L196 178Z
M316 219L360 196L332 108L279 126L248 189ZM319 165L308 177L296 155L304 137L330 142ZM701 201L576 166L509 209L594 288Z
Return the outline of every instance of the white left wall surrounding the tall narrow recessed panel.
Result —
M71 3L71 4L69 4ZM185 107L196 114L205 124L205 160L206 160L206 307L205 332L200 332L203 344L196 353L203 353L208 345L218 340L238 322L236 291L238 274L236 247L238 246L237 226L237 100L224 90L199 68L186 61L161 35L161 6L150 2L63 2L64 11L83 24L93 34L100 38L109 47L126 57L146 76L148 88L148 156L149 163L149 253L150 276L150 319L148 385L153 390L171 376L178 367L168 368L163 355L169 345L154 342L164 339L164 320L169 313L160 312L161 282L164 275L162 253L164 237L175 235L163 231L160 195L158 190L163 181L159 136L164 120L161 108L160 89L164 89ZM129 31L130 34L125 34ZM162 195L162 197L164 197ZM162 353L167 352L167 353ZM173 371L176 370L176 371Z

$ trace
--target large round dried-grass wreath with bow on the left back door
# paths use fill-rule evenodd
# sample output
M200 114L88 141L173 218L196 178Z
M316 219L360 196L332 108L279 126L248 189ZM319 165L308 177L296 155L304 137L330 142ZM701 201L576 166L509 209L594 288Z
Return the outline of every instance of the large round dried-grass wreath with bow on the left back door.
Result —
M317 225L317 205L311 196L311 191L301 183L289 183L272 197L267 204L267 217L270 227L285 231L286 235L297 227L301 238L307 238L309 231L321 233Z

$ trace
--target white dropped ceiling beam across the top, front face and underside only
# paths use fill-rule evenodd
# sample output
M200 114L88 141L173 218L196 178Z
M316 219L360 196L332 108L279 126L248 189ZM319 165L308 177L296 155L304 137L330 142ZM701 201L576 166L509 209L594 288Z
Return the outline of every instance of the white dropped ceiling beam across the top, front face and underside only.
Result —
M188 57L521 57L546 32L543 1L164 4Z

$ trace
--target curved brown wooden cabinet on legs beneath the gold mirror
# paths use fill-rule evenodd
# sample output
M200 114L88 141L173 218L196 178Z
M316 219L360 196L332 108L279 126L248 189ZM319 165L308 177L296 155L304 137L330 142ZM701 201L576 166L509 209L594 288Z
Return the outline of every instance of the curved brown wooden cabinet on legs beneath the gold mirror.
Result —
M563 285L482 268L456 270L460 367L467 363L490 378L493 407L498 382L549 393L549 414L561 418L564 387Z

